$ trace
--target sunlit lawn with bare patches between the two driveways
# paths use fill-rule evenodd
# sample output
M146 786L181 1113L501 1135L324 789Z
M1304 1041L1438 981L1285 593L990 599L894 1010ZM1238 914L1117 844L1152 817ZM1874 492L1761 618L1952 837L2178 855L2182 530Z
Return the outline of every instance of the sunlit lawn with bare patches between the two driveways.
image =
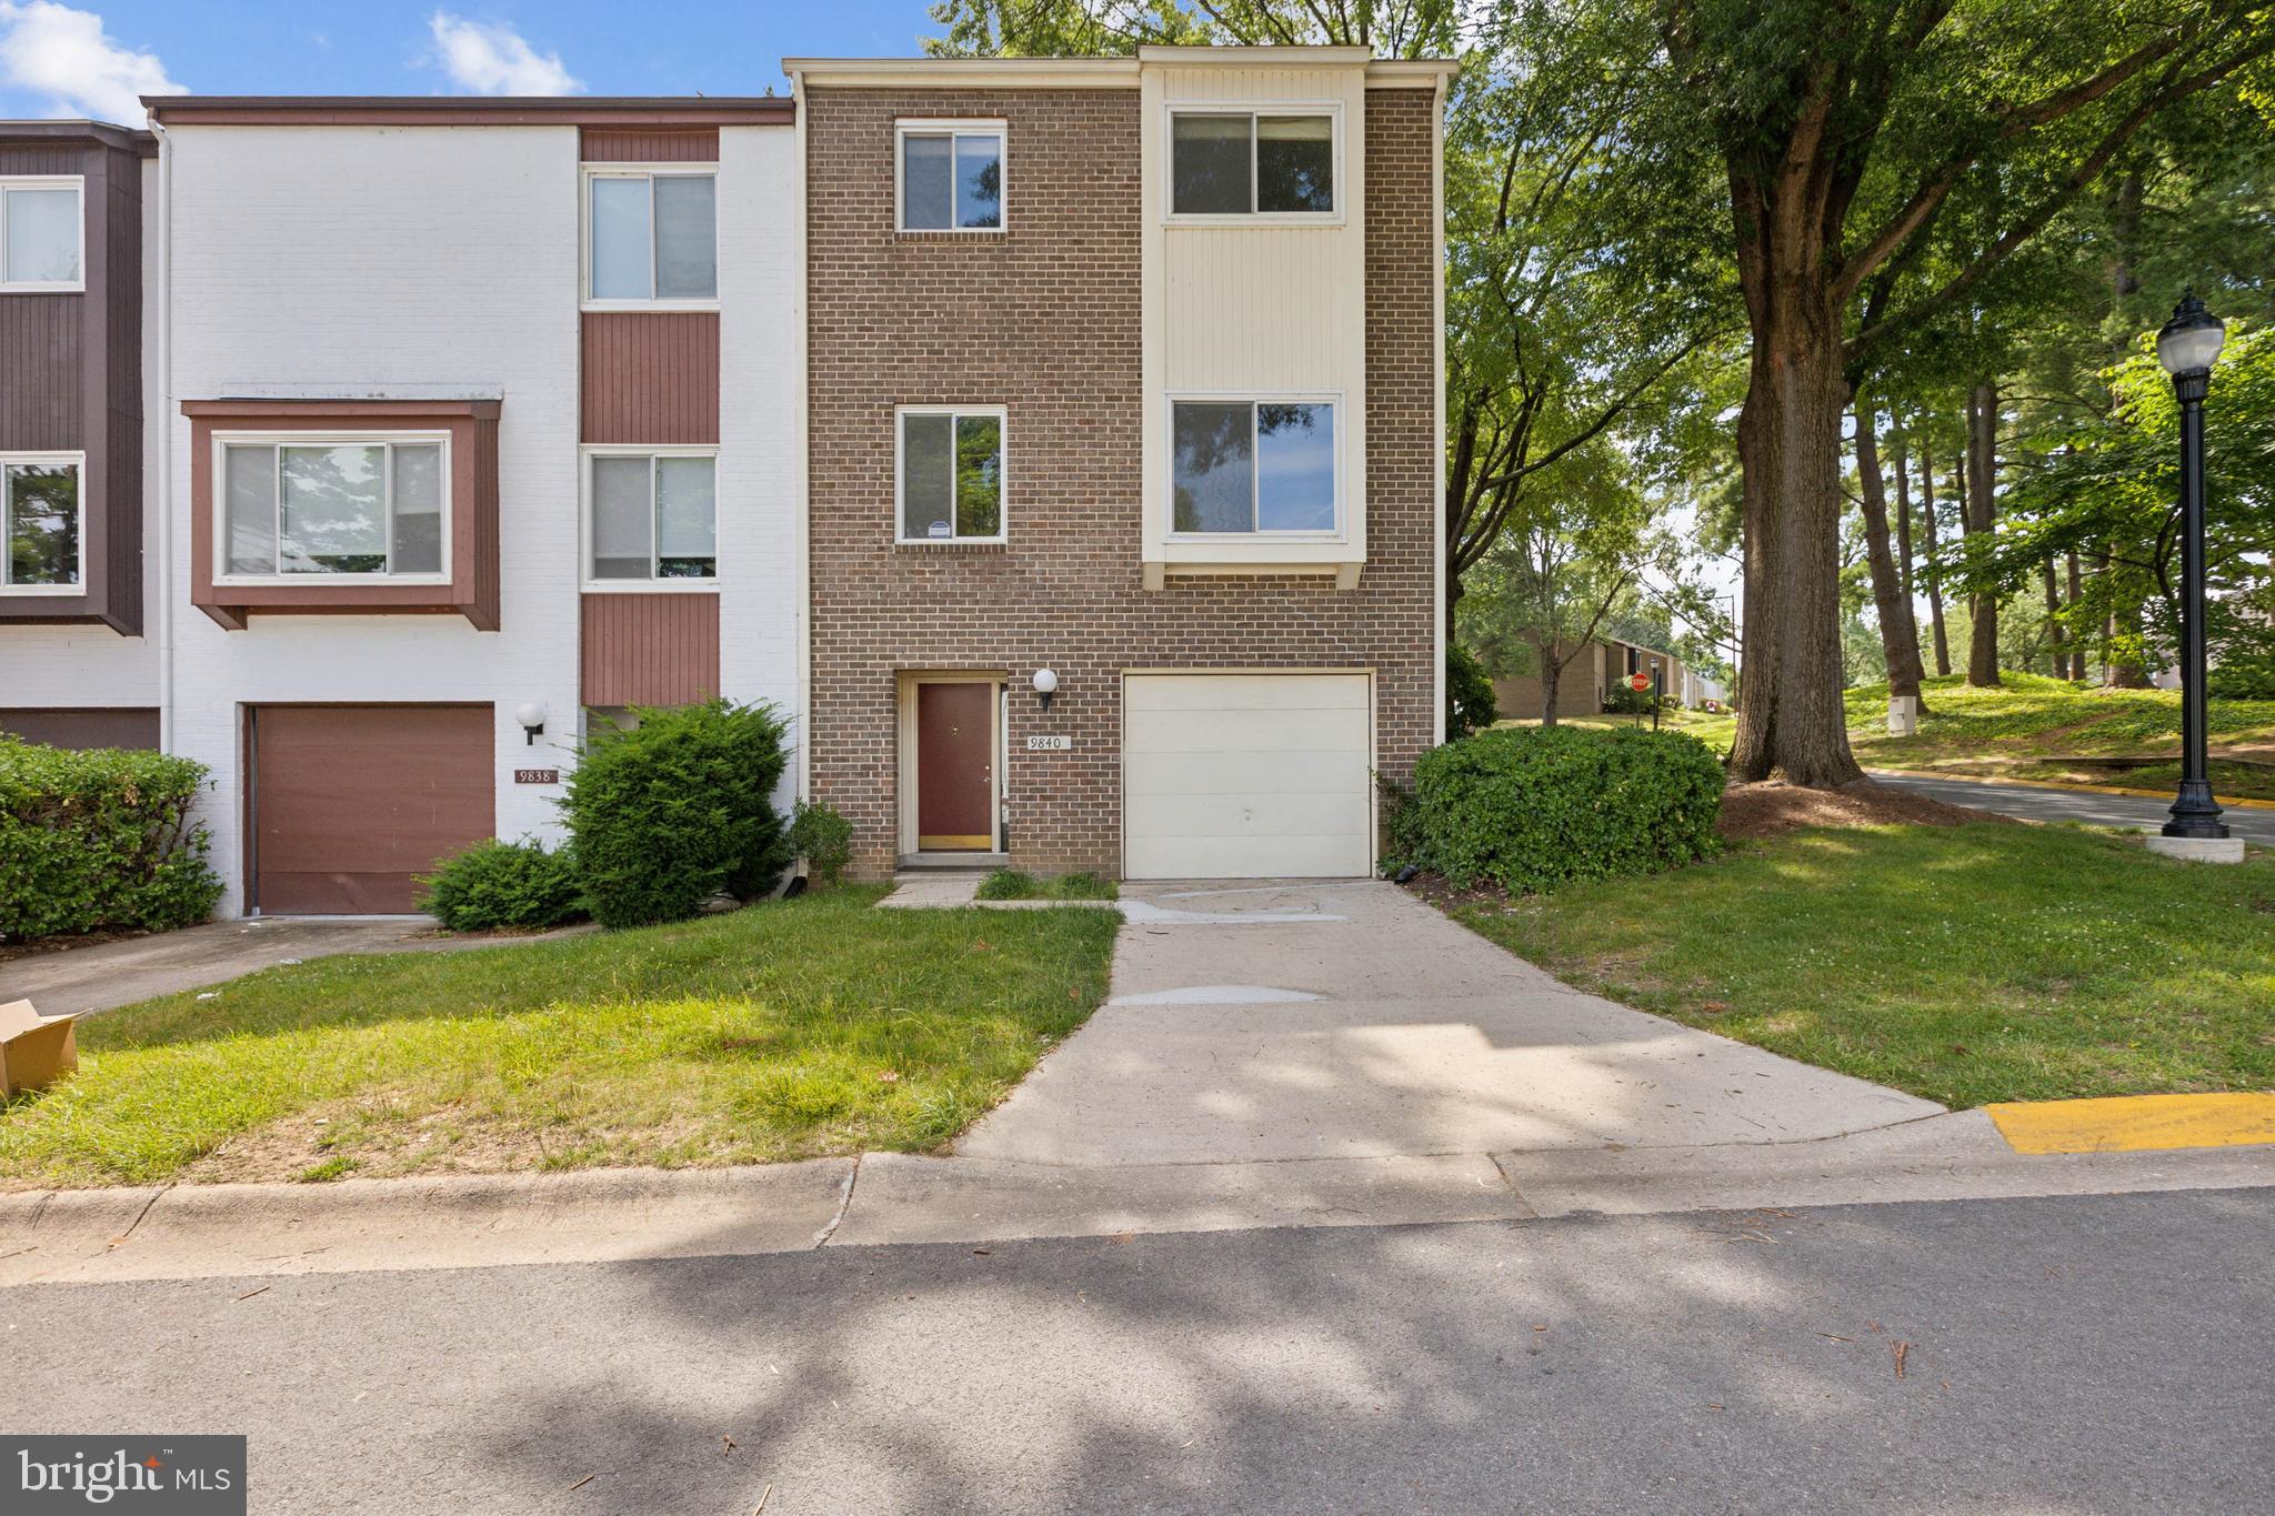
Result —
M1106 996L1119 916L876 911L271 968L80 1021L0 1184L328 1180L926 1150Z

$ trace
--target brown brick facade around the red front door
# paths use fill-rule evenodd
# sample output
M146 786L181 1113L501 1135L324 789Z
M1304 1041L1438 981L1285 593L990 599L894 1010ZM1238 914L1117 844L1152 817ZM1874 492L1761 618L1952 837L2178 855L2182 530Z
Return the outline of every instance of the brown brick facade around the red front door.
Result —
M1122 673L1372 668L1376 761L1433 730L1436 236L1426 89L1367 91L1367 566L1140 582L1140 93L812 89L812 793L890 873L899 670L1010 677L1012 861L1122 873ZM994 116L1001 236L894 232L894 120ZM894 407L1001 405L1006 545L894 545ZM1044 714L1026 689L1058 670ZM1035 732L1072 752L1026 752Z

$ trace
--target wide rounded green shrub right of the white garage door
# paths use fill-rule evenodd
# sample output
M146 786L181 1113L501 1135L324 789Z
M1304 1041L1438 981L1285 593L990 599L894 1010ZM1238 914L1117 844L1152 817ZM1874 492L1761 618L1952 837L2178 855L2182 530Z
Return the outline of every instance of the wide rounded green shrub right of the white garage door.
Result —
M1415 764L1406 861L1461 889L1549 891L1713 852L1722 766L1684 732L1504 727Z

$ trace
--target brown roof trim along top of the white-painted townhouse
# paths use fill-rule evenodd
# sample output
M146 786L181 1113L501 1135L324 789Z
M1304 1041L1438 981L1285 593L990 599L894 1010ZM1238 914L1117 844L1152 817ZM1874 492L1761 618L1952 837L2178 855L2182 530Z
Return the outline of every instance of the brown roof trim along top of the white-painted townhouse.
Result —
M787 127L789 95L143 95L200 127Z

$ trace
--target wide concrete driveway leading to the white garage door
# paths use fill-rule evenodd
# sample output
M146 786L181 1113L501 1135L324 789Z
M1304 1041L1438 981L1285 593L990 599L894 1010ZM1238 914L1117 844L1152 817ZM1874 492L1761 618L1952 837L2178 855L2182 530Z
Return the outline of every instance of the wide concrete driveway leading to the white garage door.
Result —
M1943 1107L1577 993L1381 880L1131 884L1112 996L958 1155L1772 1143Z

